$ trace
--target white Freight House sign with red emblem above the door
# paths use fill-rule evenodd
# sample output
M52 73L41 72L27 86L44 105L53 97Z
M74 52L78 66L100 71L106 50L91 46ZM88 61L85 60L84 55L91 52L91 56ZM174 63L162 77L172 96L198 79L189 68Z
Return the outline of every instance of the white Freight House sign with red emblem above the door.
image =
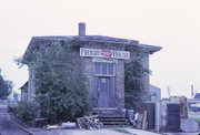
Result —
M80 56L129 60L130 52L129 51L106 50L106 49L101 50L101 49L80 48Z

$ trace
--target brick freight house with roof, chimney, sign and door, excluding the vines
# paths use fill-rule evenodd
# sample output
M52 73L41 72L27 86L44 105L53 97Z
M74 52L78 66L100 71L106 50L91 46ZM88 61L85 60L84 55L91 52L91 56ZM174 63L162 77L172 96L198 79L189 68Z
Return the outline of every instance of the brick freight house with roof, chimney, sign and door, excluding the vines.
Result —
M80 60L78 68L88 79L87 90L93 108L124 107L124 64L137 59L137 50L144 50L148 55L142 64L149 69L149 55L161 50L160 46L141 44L134 40L86 35L86 24L79 23L79 35L73 37L33 37L24 55L23 63L30 61L29 54L40 42L64 42L72 39L73 60ZM67 62L67 61L66 61ZM29 68L28 100L34 94L33 72ZM149 93L149 75L143 79L144 90Z

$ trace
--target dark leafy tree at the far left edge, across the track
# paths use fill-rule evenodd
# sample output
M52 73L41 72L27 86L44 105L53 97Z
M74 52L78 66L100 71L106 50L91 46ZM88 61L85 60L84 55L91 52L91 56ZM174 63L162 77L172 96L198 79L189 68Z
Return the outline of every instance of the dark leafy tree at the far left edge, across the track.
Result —
M7 98L7 96L9 96L11 92L12 92L12 82L4 80L0 74L0 98Z

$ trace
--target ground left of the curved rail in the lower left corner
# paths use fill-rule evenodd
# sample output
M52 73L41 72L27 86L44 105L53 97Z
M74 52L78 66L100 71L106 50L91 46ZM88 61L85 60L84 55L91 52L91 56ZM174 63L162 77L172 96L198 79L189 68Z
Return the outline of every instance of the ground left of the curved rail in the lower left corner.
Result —
M7 108L2 105L0 106L0 135L28 135L10 121Z

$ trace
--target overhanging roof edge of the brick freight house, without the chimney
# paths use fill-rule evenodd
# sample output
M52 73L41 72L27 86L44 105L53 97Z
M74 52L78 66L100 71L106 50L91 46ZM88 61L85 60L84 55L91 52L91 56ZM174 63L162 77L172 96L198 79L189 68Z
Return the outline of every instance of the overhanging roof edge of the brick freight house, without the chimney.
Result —
M139 41L136 40L128 40L128 39L120 39L120 38L112 38L112 37L103 37L103 35L66 35L66 37L32 37L23 56L22 63L27 64L28 53L32 48L36 45L36 42L40 41L66 41L67 39L72 38L74 42L94 42L94 43L110 43L110 44L118 44L118 45L126 45L129 48L143 48L150 54L160 51L161 46L148 45L148 44L140 44Z

